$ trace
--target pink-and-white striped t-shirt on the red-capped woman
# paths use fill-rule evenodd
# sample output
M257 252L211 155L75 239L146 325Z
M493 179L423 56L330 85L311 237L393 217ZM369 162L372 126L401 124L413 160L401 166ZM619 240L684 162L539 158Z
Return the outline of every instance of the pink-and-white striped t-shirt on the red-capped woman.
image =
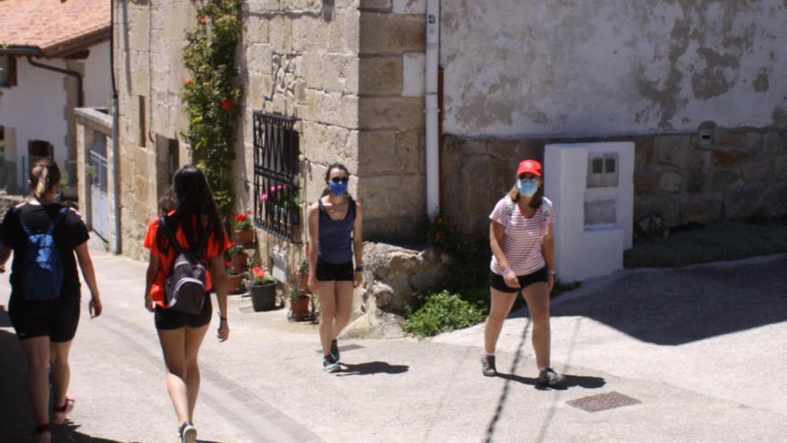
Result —
M500 199L489 214L489 219L505 226L503 244L500 246L508 266L517 276L526 276L545 266L541 240L546 235L546 226L554 223L556 217L552 201L546 198L530 218L522 217L519 205L512 203L508 196ZM504 269L497 264L494 254L490 268L495 274L503 275Z

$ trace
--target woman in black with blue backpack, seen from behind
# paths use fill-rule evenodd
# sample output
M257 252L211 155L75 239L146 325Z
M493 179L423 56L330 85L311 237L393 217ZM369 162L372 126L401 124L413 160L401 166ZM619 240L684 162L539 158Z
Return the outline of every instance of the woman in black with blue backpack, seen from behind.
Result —
M88 228L75 210L56 202L60 175L54 161L39 160L30 169L32 198L9 209L0 226L0 272L13 251L8 314L28 362L36 419L31 440L37 443L51 441L50 425L62 424L74 405L67 392L68 354L80 320L77 263L90 289L90 317L102 311ZM51 418L50 382L55 394Z

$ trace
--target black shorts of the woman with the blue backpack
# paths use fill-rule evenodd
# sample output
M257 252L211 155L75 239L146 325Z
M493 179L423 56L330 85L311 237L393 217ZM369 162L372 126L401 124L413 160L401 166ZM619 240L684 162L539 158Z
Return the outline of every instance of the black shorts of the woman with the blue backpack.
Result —
M79 295L61 295L55 300L28 302L11 296L8 316L20 340L49 337L49 341L71 341L80 323Z

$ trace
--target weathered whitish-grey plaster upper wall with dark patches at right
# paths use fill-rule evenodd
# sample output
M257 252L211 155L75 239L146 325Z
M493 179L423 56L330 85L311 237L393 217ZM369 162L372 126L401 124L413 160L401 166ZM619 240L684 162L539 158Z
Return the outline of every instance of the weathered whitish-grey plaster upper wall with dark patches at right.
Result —
M442 2L444 131L787 127L782 0Z

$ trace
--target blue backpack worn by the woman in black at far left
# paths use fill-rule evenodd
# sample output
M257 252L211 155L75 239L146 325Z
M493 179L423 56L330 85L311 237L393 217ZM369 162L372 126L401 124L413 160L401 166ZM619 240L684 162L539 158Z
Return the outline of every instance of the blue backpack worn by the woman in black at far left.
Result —
M19 224L28 236L22 265L25 300L53 300L60 296L63 287L63 264L60 262L60 252L57 251L52 233L66 213L68 208L60 209L55 221L41 234L31 233L21 219L21 212L19 213Z

